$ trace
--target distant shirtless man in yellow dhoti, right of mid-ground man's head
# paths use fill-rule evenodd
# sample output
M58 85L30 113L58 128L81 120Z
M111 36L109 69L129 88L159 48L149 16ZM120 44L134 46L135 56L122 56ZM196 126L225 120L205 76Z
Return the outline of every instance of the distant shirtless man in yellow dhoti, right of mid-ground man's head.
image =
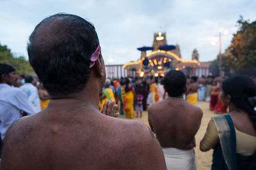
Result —
M188 91L186 94L187 101L191 104L194 104L195 106L197 104L197 99L198 99L197 91L200 88L198 83L196 83L196 81L197 81L197 77L192 76L190 79Z

